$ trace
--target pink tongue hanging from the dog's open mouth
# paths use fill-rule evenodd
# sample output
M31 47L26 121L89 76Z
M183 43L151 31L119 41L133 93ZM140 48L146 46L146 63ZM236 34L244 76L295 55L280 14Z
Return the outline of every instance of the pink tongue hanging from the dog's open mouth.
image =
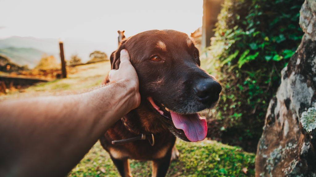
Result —
M206 120L198 113L195 114L177 114L170 111L174 126L182 129L188 140L192 142L202 141L207 134Z

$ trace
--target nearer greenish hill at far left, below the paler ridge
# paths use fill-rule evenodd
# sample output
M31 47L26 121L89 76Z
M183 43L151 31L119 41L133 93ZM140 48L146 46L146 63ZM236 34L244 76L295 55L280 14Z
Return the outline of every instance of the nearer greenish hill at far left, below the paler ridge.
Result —
M36 66L45 52L33 48L15 48L9 47L0 49L0 54L9 57L12 62L20 66L28 65L29 68Z

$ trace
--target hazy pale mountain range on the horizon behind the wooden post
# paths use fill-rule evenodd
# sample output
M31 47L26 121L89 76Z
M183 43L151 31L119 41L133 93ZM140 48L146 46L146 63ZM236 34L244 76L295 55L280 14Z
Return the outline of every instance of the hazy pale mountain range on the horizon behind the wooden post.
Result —
M89 43L78 39L67 39L64 42L65 59L77 54L82 62L89 60L89 54L94 50L103 49L103 44ZM59 61L59 42L52 38L35 38L12 36L0 39L0 54L7 56L18 65L28 65L33 68L44 54L53 55Z

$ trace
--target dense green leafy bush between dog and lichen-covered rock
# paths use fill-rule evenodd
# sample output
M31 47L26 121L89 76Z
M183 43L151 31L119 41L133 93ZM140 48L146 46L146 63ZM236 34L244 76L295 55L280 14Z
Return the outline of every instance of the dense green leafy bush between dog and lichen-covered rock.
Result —
M303 35L303 0L225 0L207 51L227 98L218 119L225 133L258 141L280 72ZM214 67L213 67L214 69ZM209 70L214 72L214 70ZM229 90L229 91L228 91ZM231 135L230 134L230 135Z

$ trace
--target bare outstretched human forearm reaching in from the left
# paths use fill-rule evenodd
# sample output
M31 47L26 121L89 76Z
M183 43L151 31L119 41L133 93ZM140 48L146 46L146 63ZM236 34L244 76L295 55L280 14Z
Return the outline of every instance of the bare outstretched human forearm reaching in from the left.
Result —
M2 168L16 176L65 175L129 111L125 102L134 93L114 83L80 95L0 103Z

